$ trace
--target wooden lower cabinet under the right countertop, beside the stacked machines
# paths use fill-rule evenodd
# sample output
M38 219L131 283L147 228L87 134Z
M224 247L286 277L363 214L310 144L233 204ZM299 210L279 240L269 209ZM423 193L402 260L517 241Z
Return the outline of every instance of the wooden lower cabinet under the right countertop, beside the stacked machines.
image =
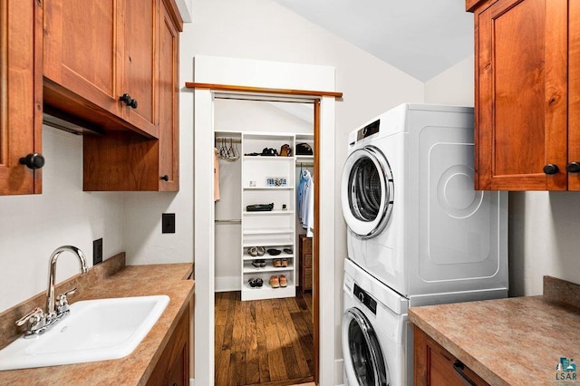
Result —
M415 386L488 385L417 326L413 326L413 336Z

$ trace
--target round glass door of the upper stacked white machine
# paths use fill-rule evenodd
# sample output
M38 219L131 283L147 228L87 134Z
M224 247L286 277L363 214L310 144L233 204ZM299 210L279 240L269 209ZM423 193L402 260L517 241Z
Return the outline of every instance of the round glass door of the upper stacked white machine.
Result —
M382 232L391 217L393 182L389 162L374 146L354 150L346 159L341 181L343 216L362 238Z

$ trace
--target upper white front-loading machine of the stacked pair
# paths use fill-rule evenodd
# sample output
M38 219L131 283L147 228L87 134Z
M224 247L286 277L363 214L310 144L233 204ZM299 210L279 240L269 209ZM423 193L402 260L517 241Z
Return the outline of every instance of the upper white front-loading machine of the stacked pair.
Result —
M507 296L507 192L473 188L472 108L402 104L353 130L348 153L349 258L411 305Z

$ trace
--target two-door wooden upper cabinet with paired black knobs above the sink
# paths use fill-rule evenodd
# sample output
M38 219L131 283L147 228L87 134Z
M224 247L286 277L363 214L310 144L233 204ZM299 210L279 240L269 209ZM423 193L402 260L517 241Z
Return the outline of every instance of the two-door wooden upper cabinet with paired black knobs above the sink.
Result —
M46 0L44 104L104 130L157 138L158 2Z

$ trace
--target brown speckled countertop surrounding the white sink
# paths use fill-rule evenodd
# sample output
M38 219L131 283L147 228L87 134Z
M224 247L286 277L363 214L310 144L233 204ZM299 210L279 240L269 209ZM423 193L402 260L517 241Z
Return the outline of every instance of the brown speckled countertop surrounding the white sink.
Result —
M94 298L169 295L170 300L167 308L137 348L130 355L118 360L0 372L0 384L85 386L141 385L147 382L161 352L169 341L171 333L175 330L179 315L188 309L189 301L192 299L194 281L185 280L192 273L192 264L124 266L124 257L124 254L113 256L102 263L105 265L109 262L106 264L109 267L90 269L89 274L92 275L74 276L65 285L79 286L78 292L80 294L73 295L71 304L78 300ZM111 268L111 266L113 267ZM107 270L108 272L104 272ZM85 282L80 283L79 281L82 281L83 276L88 277ZM58 285L58 287L63 287L63 285ZM69 288L64 287L63 289ZM10 329L13 328L14 320L17 319L14 319L14 312L23 314L23 310L30 308L31 302L39 300L42 302L43 299L45 299L43 295L36 296L24 302L24 305L19 304L0 314L0 327L3 328L0 335L6 335L5 331L8 330L5 328L6 325L9 325ZM5 345L2 344L3 338L5 340L12 339L0 336L0 347Z

